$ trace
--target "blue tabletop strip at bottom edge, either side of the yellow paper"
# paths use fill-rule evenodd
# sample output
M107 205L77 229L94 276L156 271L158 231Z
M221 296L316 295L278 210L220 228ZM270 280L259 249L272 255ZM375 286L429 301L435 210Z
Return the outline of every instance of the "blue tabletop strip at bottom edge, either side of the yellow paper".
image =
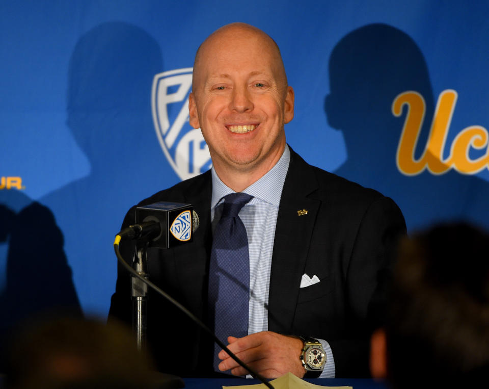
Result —
M260 383L256 379L236 378L184 378L186 389L221 389L224 386L251 385ZM354 389L388 389L385 381L363 378L323 378L306 379L321 386L352 386Z

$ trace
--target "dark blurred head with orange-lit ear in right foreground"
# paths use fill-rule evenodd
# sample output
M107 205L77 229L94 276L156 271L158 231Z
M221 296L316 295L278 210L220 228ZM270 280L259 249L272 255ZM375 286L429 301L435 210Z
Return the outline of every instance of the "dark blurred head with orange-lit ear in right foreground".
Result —
M489 377L489 235L441 225L400 245L371 370L396 389L470 387Z

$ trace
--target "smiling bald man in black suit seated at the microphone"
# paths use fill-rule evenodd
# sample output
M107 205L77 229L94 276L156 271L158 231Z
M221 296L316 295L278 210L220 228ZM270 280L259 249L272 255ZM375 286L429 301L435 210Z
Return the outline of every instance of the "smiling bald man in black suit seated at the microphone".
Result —
M381 316L404 219L391 199L308 165L287 146L284 124L292 120L293 106L280 51L268 35L233 23L204 41L189 114L209 146L212 170L142 202L192 203L201 226L190 244L150 248L148 273L212 324L212 231L224 195L250 194L239 212L249 242L249 330L239 339L228 333L229 349L268 378L289 371L299 377L366 376L369 336ZM133 222L134 208L124 225ZM132 257L130 244L121 251ZM128 289L129 277L120 269L110 314L126 321ZM149 347L159 368L209 375L212 341L159 297L149 301ZM309 366L308 347L324 355L318 370ZM246 374L224 351L219 358L219 370Z

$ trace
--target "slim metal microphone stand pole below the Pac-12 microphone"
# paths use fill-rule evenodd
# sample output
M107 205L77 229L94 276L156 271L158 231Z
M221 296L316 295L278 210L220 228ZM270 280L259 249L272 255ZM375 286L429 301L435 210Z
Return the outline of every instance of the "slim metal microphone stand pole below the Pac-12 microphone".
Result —
M140 276L148 279L147 273L147 248L149 242L136 241L132 268ZM138 350L146 348L146 305L147 305L148 286L138 277L131 276L132 294L132 330L136 335Z

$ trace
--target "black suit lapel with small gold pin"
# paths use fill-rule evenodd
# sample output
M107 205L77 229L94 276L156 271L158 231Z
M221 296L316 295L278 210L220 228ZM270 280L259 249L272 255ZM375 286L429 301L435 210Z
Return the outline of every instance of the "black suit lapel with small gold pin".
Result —
M292 149L290 151L275 230L268 297L268 329L285 333L292 333L307 248L320 203L307 197L317 189L311 167Z

